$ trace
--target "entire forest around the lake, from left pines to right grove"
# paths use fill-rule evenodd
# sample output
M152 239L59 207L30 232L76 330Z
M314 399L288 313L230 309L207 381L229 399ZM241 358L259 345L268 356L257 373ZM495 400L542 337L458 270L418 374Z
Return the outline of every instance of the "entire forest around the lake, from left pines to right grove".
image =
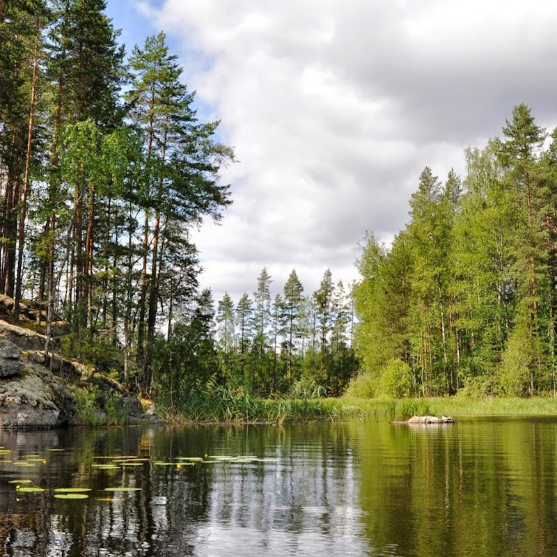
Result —
M191 231L232 203L219 122L196 114L164 33L126 54L104 0L0 0L0 294L47 339L173 407L262 398L554 394L557 132L525 104L466 175L426 167L361 280L201 290ZM61 331L61 333L60 333ZM208 386L208 387L207 387Z

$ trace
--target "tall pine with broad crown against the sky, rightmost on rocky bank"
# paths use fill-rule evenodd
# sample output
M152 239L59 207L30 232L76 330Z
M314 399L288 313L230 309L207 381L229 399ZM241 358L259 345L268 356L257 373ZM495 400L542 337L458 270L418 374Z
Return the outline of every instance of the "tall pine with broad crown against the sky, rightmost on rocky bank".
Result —
M220 218L221 208L230 201L228 186L218 183L219 170L233 153L214 141L218 123L198 123L192 107L194 93L180 82L182 68L176 56L168 54L164 33L148 37L143 49L134 47L130 65L134 79L127 100L146 151L146 173L138 192L145 212L138 359L143 367L142 387L148 390L162 230L170 220L182 223L187 231L205 216Z

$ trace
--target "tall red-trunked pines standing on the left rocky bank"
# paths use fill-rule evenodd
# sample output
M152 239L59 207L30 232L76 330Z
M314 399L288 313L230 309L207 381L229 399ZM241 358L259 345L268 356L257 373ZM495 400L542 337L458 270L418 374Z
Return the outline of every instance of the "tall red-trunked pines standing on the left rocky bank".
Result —
M231 203L233 151L164 34L126 61L105 8L0 0L0 293L16 314L42 302L66 353L112 357L148 393L161 320L203 311L189 231Z

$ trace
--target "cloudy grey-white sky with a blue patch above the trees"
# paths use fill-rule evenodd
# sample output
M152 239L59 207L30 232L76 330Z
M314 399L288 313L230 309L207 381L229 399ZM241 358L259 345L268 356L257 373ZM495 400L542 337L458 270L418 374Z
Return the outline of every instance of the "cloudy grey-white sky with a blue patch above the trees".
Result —
M201 120L237 162L233 205L193 235L215 299L272 294L292 269L358 278L359 240L389 245L430 166L464 178L464 149L524 102L557 124L557 3L547 0L109 0L128 52L164 31Z

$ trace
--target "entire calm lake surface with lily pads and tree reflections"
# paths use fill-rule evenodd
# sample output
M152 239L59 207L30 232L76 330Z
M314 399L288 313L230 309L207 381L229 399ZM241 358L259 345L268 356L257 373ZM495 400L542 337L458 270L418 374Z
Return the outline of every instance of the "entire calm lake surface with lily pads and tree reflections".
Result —
M0 432L0 447L1 557L557 555L557 418Z

